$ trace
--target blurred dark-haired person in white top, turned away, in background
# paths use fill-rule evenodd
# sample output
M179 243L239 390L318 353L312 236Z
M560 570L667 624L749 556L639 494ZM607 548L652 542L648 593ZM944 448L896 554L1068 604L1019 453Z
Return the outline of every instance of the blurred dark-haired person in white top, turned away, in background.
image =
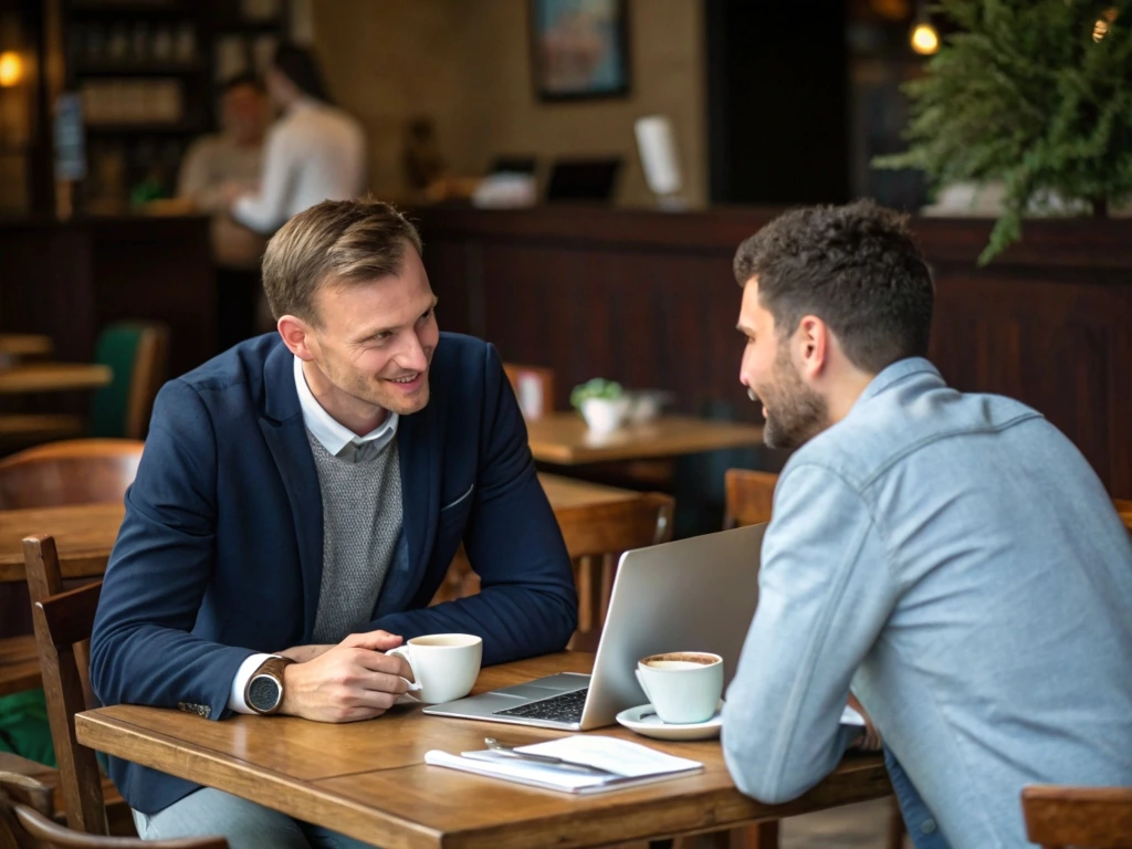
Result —
M232 217L264 235L315 204L366 190L366 135L332 104L310 51L280 45L267 93L282 117L267 134L258 191L232 186L226 192Z

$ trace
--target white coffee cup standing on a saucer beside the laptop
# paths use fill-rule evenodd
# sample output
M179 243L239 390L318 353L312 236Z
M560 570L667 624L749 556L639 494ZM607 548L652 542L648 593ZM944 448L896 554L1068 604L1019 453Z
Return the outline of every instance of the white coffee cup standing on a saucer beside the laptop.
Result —
M667 652L642 658L637 681L657 715L670 724L706 722L723 695L723 659L710 652Z

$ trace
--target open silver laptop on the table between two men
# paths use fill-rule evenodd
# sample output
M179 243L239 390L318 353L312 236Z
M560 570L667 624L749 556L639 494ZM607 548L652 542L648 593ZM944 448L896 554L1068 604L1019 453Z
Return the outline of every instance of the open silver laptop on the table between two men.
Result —
M435 704L426 713L589 730L648 702L633 670L641 658L706 651L730 684L758 600L766 525L710 533L621 555L593 675L563 672Z

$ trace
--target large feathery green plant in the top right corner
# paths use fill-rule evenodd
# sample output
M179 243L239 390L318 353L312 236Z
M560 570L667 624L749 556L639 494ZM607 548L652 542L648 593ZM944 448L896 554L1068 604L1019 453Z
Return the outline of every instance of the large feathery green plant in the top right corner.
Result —
M1004 183L985 265L1022 234L1022 214L1132 195L1132 0L941 0L958 25L906 84L907 153L934 188Z

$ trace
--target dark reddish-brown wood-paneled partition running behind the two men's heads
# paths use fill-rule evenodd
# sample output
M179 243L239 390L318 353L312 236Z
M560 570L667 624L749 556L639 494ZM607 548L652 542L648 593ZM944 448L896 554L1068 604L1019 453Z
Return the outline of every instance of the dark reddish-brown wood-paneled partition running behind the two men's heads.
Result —
M555 404L594 376L724 401L738 383L738 243L775 211L538 208L418 213L443 324L556 372ZM1132 497L1132 221L1038 221L986 268L990 222L914 221L936 276L932 359L953 386L1015 397Z

